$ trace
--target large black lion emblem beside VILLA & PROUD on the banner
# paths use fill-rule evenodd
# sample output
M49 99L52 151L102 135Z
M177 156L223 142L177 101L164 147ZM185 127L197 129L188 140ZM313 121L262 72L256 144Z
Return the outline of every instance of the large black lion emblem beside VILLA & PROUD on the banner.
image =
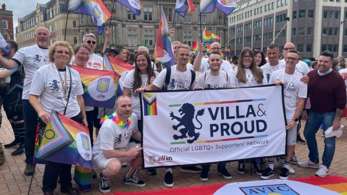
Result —
M178 110L178 111L180 112L181 116L183 115L182 118L175 116L174 113L172 113L172 112L170 113L171 120L176 119L177 121L179 121L179 123L177 125L172 125L172 128L175 131L177 131L178 127L180 127L180 126L184 126L184 128L180 129L180 133L182 134L181 136L174 135L173 138L175 140L187 138L187 133L188 133L189 138L193 137L193 139L187 140L187 143L193 143L194 141L198 140L198 138L200 136L200 133L196 133L195 129L199 130L202 128L202 124L198 120L198 116L204 115L205 109L199 110L197 115L196 115L196 119L200 124L199 128L195 127L195 125L193 123L195 108L192 104L184 103L180 107L180 110Z

